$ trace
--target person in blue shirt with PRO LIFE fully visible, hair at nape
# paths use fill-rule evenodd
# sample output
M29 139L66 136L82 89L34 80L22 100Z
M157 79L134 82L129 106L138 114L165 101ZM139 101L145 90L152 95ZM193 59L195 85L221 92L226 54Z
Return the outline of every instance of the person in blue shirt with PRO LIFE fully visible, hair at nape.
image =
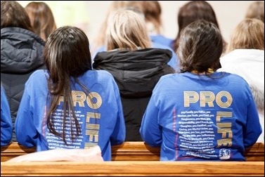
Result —
M181 32L180 74L155 86L141 125L141 136L161 146L162 161L244 161L245 147L261 133L247 82L216 72L222 38L212 22L198 20Z

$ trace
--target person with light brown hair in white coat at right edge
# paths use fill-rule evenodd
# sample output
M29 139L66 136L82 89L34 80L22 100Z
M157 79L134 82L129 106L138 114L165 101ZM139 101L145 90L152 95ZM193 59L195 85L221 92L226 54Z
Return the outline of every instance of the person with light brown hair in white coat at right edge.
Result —
M257 141L264 142L264 22L254 18L240 22L220 63L219 71L238 74L250 85L263 130Z

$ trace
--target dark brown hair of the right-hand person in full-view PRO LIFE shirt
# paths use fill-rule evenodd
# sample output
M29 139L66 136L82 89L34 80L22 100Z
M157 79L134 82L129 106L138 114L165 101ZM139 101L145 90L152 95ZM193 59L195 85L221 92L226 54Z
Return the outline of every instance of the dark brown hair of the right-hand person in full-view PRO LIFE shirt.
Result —
M181 72L207 74L208 69L219 69L223 51L222 37L218 27L206 20L190 23L181 31L177 55Z

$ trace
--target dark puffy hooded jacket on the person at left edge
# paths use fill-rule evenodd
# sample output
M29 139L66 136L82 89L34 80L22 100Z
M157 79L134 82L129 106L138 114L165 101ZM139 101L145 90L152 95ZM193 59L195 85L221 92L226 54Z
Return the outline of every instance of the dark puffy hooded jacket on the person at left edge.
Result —
M45 42L27 29L4 27L1 29L1 84L11 110L14 123L24 86L30 74L44 68L43 52Z

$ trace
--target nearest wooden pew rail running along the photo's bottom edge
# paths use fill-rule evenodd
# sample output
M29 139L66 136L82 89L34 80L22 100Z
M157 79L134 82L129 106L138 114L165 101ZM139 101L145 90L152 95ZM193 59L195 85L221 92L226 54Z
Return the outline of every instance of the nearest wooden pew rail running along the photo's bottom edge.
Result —
M1 176L264 176L264 162L1 162Z

